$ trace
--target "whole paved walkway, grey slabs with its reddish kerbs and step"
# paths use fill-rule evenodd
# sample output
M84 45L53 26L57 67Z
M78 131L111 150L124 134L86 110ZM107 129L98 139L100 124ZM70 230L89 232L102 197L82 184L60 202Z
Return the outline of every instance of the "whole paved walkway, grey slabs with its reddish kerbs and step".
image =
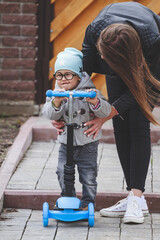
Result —
M143 224L123 224L122 218L105 218L99 209L127 195L109 121L98 150L98 193L95 225L49 220L42 226L42 204L50 209L59 197L56 176L59 143L49 120L31 117L20 129L0 169L0 239L3 240L159 240L160 239L160 129L152 126L152 154L145 196L150 214ZM81 197L76 171L75 187Z

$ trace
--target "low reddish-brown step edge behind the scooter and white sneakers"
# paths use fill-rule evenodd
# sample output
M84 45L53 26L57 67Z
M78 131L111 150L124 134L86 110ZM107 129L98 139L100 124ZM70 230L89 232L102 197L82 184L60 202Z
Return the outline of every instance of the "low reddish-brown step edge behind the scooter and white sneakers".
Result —
M77 193L77 197L81 199L82 194ZM22 208L32 210L42 210L44 202L48 202L50 209L60 197L60 192L46 190L6 190L4 193L5 208ZM126 193L118 192L99 192L96 196L95 210L110 207L119 200L127 197ZM160 213L160 194L146 193L150 213Z

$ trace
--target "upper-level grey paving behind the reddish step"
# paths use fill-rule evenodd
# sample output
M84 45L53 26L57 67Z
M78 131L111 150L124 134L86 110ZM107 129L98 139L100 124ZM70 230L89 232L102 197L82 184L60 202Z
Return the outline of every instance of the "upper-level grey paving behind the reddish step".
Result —
M59 191L56 165L59 143L33 142L13 174L7 189ZM115 144L99 145L98 192L122 192L126 185ZM146 192L160 193L160 146L152 146L152 155L146 180ZM76 173L76 189L81 191Z

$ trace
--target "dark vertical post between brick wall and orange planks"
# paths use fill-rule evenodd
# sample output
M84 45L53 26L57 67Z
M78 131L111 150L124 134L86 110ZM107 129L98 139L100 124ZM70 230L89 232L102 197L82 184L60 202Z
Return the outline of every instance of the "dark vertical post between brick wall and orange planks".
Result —
M54 4L50 4L50 0L40 0L38 10L38 54L36 65L36 96L37 104L45 102L46 90L51 88L49 86L52 81L48 80L49 75L49 60L52 58L50 39L50 22L53 18Z

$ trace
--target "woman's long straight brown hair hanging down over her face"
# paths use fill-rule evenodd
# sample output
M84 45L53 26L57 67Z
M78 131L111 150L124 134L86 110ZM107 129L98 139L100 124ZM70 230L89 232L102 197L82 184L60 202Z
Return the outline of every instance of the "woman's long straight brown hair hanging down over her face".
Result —
M147 66L134 28L128 24L111 24L101 32L97 49L128 86L147 119L159 125L152 109L160 103L160 82Z

